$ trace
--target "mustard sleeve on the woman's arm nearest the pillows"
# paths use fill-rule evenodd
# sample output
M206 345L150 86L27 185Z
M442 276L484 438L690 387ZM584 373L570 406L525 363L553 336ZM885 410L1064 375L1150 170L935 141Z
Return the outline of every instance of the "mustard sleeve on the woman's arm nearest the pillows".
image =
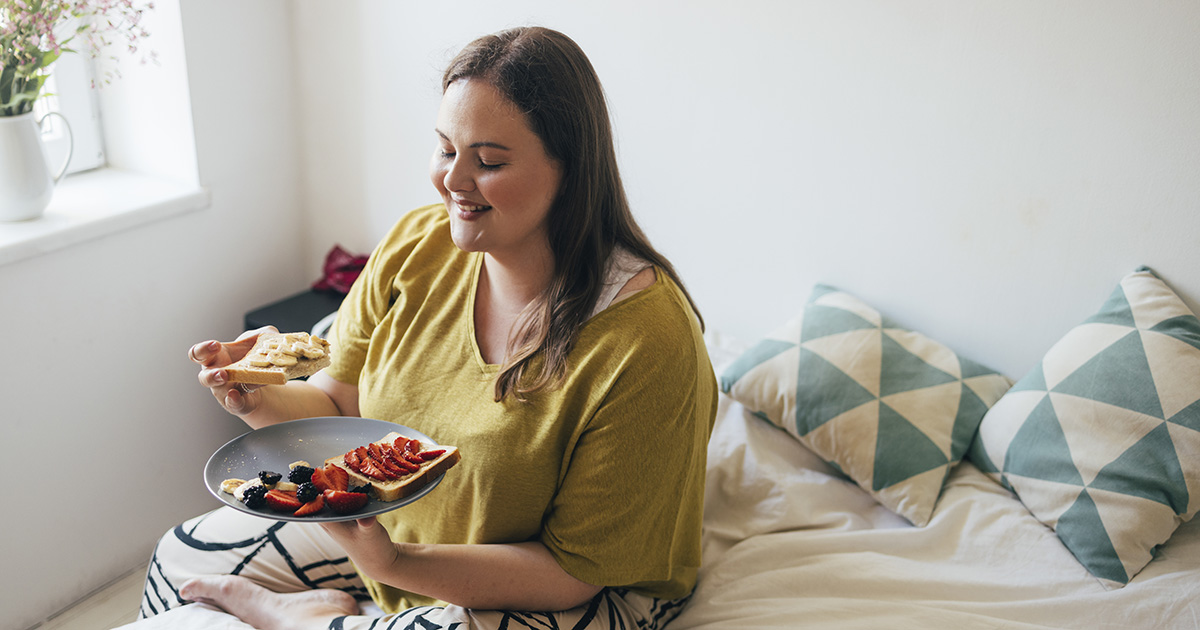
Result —
M578 580L679 598L701 560L715 378L686 314L630 319L622 336L640 342L570 452L541 540Z

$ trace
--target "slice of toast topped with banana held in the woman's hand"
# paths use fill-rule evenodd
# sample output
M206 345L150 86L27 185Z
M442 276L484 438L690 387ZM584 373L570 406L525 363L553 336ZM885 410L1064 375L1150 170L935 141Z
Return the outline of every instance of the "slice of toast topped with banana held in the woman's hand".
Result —
M329 342L320 337L307 332L263 332L246 356L224 370L230 383L282 385L293 378L316 374L330 362Z

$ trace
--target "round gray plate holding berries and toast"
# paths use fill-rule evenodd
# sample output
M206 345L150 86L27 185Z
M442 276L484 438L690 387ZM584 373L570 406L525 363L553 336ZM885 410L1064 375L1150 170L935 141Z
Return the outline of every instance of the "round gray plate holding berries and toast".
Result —
M209 487L209 492L214 497L226 505L272 521L310 523L353 521L354 518L388 512L428 494L442 482L445 473L438 475L413 496L394 502L380 502L372 498L361 510L347 515L334 514L328 508L313 516L293 516L265 506L251 509L235 499L233 494L222 492L221 482L226 479L251 479L258 476L259 470L274 470L283 474L283 478L287 479L288 464L294 461L305 460L313 468L319 468L325 460L342 455L350 449L371 444L392 431L426 444L437 444L420 431L368 418L326 416L292 420L251 431L217 449L212 457L209 457L209 463L204 466L204 485Z

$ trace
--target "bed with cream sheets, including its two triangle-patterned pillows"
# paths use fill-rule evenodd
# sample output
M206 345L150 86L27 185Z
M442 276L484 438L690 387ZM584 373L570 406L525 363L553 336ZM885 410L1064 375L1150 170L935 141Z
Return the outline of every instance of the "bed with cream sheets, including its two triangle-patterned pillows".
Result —
M668 628L1200 628L1200 320L1150 269L1098 301L1015 380L828 286L710 332L703 566Z

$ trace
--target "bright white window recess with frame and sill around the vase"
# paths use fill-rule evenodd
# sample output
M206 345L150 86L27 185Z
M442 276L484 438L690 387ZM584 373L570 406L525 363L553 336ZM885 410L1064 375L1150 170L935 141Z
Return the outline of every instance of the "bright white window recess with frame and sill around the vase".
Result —
M0 222L0 266L211 204L211 193L199 178L180 0L155 0L145 22L155 34L152 65L122 65L119 80L103 85L97 80L96 89L90 79L73 82L104 113L96 119L107 138L106 164L62 178L44 216Z

